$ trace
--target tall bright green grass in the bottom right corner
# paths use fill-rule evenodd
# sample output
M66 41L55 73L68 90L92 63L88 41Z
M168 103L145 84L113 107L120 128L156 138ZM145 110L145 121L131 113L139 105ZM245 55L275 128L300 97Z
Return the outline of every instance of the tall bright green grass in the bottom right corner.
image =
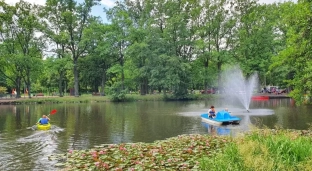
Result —
M312 139L300 131L257 130L236 138L214 159L203 159L203 170L312 170Z

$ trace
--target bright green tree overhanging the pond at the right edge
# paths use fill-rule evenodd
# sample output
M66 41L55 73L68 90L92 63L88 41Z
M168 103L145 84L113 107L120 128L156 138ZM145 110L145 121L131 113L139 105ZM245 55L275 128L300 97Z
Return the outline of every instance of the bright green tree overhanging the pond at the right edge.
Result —
M287 79L289 86L293 88L290 96L297 104L303 103L304 95L311 97L311 49L312 49L312 2L299 0L293 5L291 11L284 14L284 23L287 24L286 49L281 51L275 58L272 68L288 66L293 68L293 78Z

